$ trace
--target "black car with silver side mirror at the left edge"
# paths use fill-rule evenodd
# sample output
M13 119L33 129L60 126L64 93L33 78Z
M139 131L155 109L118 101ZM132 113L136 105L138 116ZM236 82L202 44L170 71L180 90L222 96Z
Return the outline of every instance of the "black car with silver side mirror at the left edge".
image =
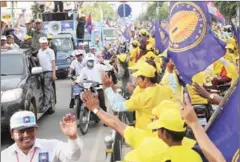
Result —
M10 117L19 110L32 111L37 118L45 112L54 113L55 83L52 85L53 104L39 113L43 102L43 70L37 66L29 49L1 51L1 130L9 128Z

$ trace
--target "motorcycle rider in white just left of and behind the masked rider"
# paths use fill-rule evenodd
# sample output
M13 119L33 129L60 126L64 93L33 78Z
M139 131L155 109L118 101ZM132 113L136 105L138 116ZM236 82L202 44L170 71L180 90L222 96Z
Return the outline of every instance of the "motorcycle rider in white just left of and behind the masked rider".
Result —
M74 70L75 76L79 76L81 74L81 71L85 66L85 63L83 61L84 53L85 53L85 51L83 51L83 50L77 51L76 59L72 61L71 65L69 67L69 72L68 72L69 78L73 75L73 70ZM69 108L73 108L73 106L74 106L74 98L73 98L72 88L71 88L71 101L70 101Z

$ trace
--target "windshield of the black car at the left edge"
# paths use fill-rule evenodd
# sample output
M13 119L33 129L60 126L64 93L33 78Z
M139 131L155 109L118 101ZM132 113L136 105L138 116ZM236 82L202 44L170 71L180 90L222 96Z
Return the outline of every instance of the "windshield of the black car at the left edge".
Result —
M22 75L24 72L23 56L20 54L1 55L1 76Z

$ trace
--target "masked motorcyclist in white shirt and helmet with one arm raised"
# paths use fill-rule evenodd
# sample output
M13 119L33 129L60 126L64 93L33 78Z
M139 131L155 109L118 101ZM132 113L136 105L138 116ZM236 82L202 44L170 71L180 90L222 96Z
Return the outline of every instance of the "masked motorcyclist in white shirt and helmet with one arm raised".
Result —
M104 62L104 60L102 60L101 63L96 63L95 57L91 54L86 57L86 64L86 67L82 69L81 74L77 77L75 83L83 82L83 80L86 79L101 84L104 72L112 70L112 66L108 62ZM97 91L100 105L102 105L103 109L106 111L107 108L105 106L103 89L100 87Z

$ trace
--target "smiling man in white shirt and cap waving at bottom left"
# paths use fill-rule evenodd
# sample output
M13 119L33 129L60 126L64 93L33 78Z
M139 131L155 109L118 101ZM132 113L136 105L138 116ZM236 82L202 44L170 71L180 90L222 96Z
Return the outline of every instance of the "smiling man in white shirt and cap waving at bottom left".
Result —
M75 116L67 114L60 121L60 128L68 138L59 140L36 138L37 124L34 113L18 111L10 119L11 138L15 141L1 152L1 162L77 162L83 141L78 136Z

